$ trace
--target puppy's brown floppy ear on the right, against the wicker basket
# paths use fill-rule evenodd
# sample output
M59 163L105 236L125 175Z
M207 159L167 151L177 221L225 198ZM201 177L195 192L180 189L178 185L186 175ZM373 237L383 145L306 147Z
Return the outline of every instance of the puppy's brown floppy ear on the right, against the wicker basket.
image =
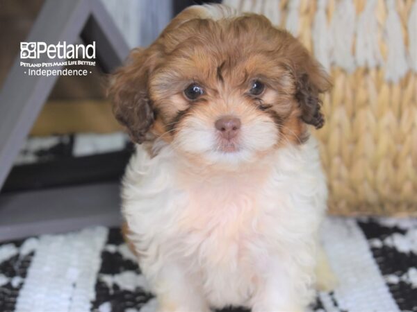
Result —
M300 105L301 119L316 129L322 128L325 118L319 95L332 87L329 75L304 47L294 64L295 99Z

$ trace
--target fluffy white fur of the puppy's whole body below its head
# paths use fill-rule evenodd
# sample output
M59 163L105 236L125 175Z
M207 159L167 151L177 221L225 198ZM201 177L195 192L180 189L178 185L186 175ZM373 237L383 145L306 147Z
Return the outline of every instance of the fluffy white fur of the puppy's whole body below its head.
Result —
M316 141L233 171L193 166L172 146L136 147L123 214L160 311L302 311L313 296L327 189Z

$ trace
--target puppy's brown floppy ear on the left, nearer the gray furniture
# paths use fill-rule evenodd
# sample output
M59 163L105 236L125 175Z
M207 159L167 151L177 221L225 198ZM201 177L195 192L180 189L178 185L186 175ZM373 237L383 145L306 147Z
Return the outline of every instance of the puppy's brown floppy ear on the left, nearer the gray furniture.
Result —
M126 127L132 141L141 144L154 123L154 108L148 94L150 71L149 52L144 49L131 51L126 64L110 78L108 96L113 114Z

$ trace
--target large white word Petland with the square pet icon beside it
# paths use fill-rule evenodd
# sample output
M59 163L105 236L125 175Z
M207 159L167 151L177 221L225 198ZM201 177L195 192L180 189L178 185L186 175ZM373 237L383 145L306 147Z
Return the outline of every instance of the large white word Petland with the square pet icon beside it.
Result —
M46 44L45 42L20 42L20 58L39 59L41 55L46 54L48 58L95 58L95 42L85 46L84 44L67 44L58 42L58 44Z

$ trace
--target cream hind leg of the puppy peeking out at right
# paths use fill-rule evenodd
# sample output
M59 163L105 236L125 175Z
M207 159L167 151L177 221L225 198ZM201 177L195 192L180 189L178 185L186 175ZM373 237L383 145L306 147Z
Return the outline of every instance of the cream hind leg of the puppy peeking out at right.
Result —
M319 291L332 291L338 285L338 281L330 267L327 254L321 245L318 246L317 257L316 287Z

